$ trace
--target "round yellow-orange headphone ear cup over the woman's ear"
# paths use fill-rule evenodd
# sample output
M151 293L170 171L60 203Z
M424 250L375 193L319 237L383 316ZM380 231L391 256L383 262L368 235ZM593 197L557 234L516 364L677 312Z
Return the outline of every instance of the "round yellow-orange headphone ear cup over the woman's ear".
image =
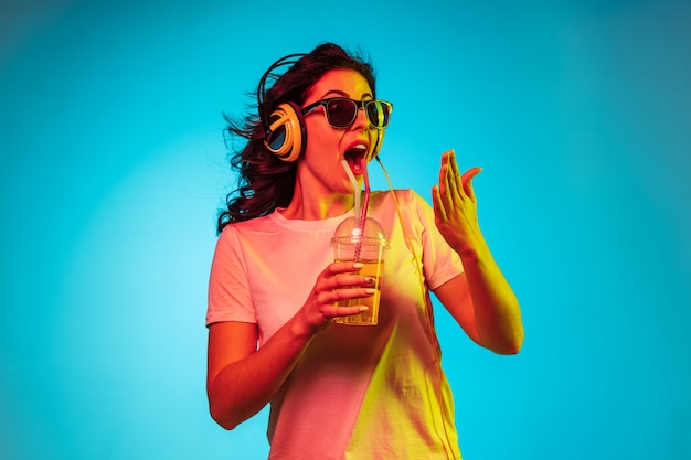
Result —
M297 104L285 103L276 107L268 118L264 145L286 162L296 161L302 154L307 147L307 130Z

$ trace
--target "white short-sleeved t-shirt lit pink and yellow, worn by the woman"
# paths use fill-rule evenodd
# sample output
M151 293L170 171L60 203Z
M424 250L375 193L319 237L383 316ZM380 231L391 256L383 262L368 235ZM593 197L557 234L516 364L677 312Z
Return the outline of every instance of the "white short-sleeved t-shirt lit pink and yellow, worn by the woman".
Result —
M372 193L369 216L390 242L379 324L332 323L312 340L270 402L270 459L460 459L425 299L427 288L458 276L463 266L432 207L411 190L395 193L422 260L414 261L392 193ZM337 226L352 215L299 221L276 211L227 225L212 264L206 324L256 323L262 346L304 306L333 260Z

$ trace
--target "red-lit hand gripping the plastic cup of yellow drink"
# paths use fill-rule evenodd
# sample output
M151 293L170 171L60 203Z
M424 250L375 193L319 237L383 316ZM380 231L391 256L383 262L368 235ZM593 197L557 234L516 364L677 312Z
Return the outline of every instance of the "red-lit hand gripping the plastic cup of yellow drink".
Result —
M328 327L336 318L350 317L368 310L364 306L336 306L338 301L371 297L376 291L373 289L372 278L357 275L362 267L361 263L337 261L319 274L305 306L296 315L296 320L305 327L306 333L311 335Z

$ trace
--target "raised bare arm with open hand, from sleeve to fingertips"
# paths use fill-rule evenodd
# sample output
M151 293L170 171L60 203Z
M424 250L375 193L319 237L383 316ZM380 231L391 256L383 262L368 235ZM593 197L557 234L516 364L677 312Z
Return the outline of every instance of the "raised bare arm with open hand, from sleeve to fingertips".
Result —
M480 232L471 183L478 172L461 176L454 151L442 157L439 186L432 191L435 222L465 272L435 295L471 339L496 353L514 354L523 344L521 309Z

